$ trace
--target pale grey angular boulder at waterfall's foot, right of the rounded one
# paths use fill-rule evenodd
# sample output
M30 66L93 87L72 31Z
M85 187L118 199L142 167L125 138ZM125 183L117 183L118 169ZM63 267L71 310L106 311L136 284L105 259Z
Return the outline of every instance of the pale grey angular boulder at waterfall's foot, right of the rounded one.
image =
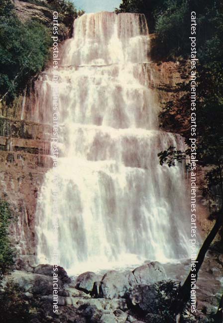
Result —
M132 271L137 284L151 284L167 278L164 267L158 262L149 262Z

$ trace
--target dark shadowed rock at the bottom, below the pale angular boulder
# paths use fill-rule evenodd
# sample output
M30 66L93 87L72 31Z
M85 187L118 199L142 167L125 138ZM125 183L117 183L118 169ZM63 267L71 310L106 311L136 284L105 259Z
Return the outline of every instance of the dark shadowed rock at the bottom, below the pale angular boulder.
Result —
M133 309L146 313L156 313L159 308L158 291L155 285L138 285L129 294Z

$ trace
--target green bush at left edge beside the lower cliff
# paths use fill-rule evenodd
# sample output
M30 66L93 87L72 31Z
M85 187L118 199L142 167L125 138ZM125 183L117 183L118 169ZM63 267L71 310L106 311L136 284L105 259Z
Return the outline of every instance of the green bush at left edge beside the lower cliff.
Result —
M14 264L14 250L11 247L8 233L11 219L8 204L0 200L0 279L11 270Z

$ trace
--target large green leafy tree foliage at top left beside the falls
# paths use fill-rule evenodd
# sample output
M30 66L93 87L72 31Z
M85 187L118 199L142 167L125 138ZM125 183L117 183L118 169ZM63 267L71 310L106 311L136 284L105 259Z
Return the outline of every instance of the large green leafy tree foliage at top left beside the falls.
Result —
M10 0L4 0L11 8ZM8 10L9 10L8 9ZM37 21L22 23L13 10L0 16L0 97L6 103L22 93L27 81L49 58L50 33Z

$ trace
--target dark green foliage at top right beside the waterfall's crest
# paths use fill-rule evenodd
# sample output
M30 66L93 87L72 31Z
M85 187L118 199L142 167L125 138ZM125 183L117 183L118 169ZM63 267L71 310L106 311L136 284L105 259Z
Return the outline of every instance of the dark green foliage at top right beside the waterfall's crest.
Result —
M144 13L156 32L156 56L176 59L190 54L191 11L196 11L197 45L210 40L221 24L222 0L122 0L119 12Z

